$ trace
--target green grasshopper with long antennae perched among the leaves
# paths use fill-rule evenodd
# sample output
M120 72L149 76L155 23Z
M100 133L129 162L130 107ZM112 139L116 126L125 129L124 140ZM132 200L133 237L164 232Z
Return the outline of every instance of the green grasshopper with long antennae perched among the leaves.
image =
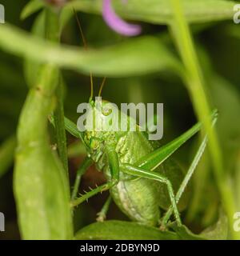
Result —
M82 34L78 18L77 21ZM86 44L83 34L82 38ZM103 126L107 127L109 123L106 122L108 120L106 116L110 113L103 109L110 102L105 101L102 110L97 110L95 102L92 100L92 74L90 74L90 79L90 105L94 113L98 113L98 118L101 119ZM105 79L102 86L104 82ZM102 92L102 86L99 94ZM89 118L92 116L86 116L86 121ZM211 118L214 125L217 119L216 111ZM126 115L126 122L130 122L130 116ZM82 140L87 151L87 157L77 172L71 206L78 206L95 194L110 190L110 198L107 199L98 214L98 220L103 220L106 217L110 200L113 198L120 210L133 221L150 226L157 226L161 223L163 227L166 226L171 214L174 214L178 225L182 224L177 205L205 150L207 136L199 146L185 177L182 168L172 158L170 159L170 156L201 129L201 123L198 122L186 133L162 147L158 143L149 141L146 132L140 131L139 126L136 127L136 131L86 130L80 132L74 122L67 118L65 118L65 126L70 134ZM97 169L106 175L106 184L90 190L80 198L76 198L82 174L94 163ZM177 184L174 182L176 180L178 181ZM175 183L174 187L173 182ZM174 190L178 190L178 193L174 194ZM160 208L168 209L162 219Z

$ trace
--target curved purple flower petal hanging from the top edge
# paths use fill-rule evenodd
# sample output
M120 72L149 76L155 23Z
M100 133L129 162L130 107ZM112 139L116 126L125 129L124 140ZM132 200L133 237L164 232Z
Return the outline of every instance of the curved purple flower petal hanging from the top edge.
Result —
M126 2L126 0L124 0L124 2ZM141 26L127 23L122 20L122 18L119 18L111 5L111 0L103 0L102 17L106 24L119 34L134 36L140 34L142 31Z

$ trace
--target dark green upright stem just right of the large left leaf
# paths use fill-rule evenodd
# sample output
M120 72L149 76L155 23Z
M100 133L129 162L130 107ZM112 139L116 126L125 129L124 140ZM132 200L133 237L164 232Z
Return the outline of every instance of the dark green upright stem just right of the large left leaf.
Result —
M52 42L60 40L59 13L56 10L46 8L46 39ZM66 176L68 177L68 162L66 151L66 131L64 127L64 106L62 78L59 74L58 87L56 89L57 106L54 113L55 132L58 146L58 154L62 161Z

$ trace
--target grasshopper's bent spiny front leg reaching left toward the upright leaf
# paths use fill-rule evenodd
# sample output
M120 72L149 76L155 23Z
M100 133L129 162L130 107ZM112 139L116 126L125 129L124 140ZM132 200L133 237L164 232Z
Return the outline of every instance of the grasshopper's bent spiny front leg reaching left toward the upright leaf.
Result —
M113 148L107 147L106 155L110 165L111 181L107 182L106 184L103 184L102 186L96 187L94 190L91 190L86 194L83 194L80 198L74 199L74 201L71 202L71 206L78 206L82 202L86 201L88 198L93 197L95 194L98 194L99 192L109 190L112 186L115 186L118 183L118 180L119 180L118 154Z

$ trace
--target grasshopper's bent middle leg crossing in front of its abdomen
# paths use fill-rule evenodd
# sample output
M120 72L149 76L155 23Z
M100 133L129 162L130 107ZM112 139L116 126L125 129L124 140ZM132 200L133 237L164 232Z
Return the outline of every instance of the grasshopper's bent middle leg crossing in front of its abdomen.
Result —
M179 226L182 225L181 218L180 218L180 215L178 212L177 203L176 203L175 196L174 196L173 186L168 178L166 178L162 174L156 173L154 171L144 170L142 168L135 167L130 164L122 164L121 170L126 174L134 175L134 176L137 176L140 178L149 178L152 180L156 180L158 182L165 183L167 186L167 190L169 192L171 204L174 209L174 215L175 215L176 221Z

